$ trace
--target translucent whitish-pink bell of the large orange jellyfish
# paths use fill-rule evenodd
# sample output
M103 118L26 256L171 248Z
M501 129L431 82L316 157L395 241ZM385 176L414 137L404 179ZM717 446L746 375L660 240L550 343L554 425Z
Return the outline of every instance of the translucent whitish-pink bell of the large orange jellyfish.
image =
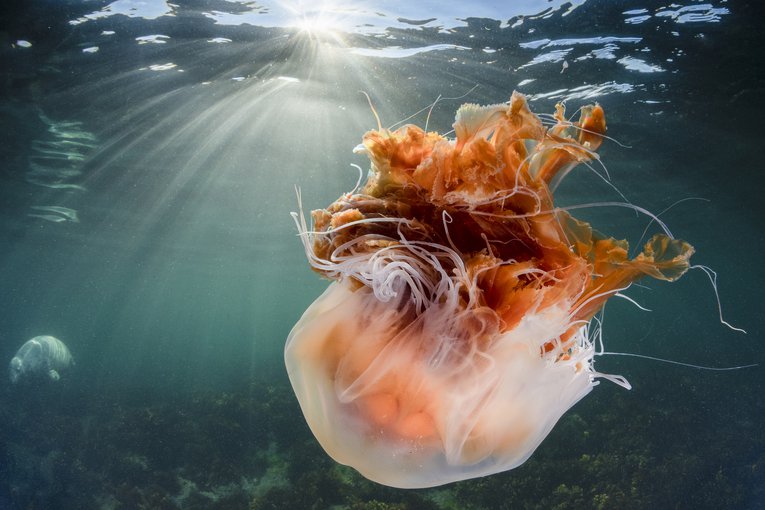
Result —
M448 307L429 307L407 325L407 311L387 304L367 289L333 283L287 348L317 439L371 480L430 487L516 467L594 384L584 336L565 361L541 356L535 344L564 331L560 308L505 334L482 323L492 317L473 318L486 329L481 338L470 336L471 318L451 321Z

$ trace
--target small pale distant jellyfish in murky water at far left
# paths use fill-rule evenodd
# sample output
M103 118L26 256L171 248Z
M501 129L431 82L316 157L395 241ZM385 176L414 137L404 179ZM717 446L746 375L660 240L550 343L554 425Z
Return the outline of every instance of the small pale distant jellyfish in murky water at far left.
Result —
M47 376L58 381L60 373L72 365L69 348L56 337L42 335L27 340L11 359L11 382L20 378Z

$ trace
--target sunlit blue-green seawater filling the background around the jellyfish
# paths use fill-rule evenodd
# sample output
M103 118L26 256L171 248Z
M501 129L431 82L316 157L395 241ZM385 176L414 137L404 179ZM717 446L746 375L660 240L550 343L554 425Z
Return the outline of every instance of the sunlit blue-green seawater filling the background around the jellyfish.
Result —
M756 2L8 2L0 15L0 362L53 335L61 380L0 378L0 508L765 508ZM350 190L351 151L442 99L598 102L610 184L561 205L660 213L718 273L611 302L604 383L522 467L399 491L337 466L283 369L326 286L289 212ZM449 99L459 96L460 99ZM424 124L426 113L410 121ZM618 142L618 143L617 143ZM617 188L618 192L614 189ZM627 209L578 211L636 243ZM655 228L655 225L652 226ZM2 361L5 360L5 361ZM5 366L5 365L3 365Z

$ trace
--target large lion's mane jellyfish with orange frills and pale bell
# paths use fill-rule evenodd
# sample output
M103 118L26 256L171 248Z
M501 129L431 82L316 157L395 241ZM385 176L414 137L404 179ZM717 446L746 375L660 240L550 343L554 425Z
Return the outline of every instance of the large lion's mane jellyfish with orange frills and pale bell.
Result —
M338 462L394 487L430 487L522 464L608 377L589 321L634 280L675 280L693 248L626 241L556 208L597 157L600 106L547 129L514 93L463 105L455 139L407 125L364 136L368 182L309 228L308 261L334 280L290 333L285 359L316 438Z

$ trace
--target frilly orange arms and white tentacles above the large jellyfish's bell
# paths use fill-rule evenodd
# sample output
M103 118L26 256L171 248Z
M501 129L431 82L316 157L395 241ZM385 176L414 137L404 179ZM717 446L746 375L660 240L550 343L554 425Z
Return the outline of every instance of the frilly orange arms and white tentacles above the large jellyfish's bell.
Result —
M550 184L597 159L606 124L599 105L577 122L558 105L553 118L546 128L514 93L506 104L463 105L455 139L414 125L368 132L366 186L313 211L311 230L298 220L311 265L380 301L403 298L416 314L449 303L455 316L491 317L492 334L564 303L572 327L541 347L565 356L609 297L642 276L679 278L693 248L658 234L630 259L626 241L557 209Z

